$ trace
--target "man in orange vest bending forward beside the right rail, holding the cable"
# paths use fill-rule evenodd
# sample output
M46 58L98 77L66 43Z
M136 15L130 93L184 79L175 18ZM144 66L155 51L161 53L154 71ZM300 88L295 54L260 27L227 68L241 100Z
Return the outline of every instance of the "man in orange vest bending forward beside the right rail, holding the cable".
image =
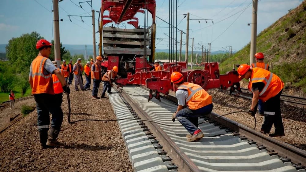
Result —
M285 136L282 123L281 106L279 97L282 94L284 82L275 74L262 68L251 69L248 64L238 67L239 77L250 79L248 89L252 91L252 105L249 114L255 115L255 106L260 99L264 102L264 121L260 132L269 134L274 124L275 132L271 137Z

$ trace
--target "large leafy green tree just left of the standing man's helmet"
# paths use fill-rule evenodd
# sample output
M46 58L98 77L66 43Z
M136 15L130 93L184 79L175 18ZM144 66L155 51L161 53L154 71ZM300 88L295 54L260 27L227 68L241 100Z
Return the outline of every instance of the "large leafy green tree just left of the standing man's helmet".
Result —
M38 50L35 45L39 39L43 39L37 32L23 34L18 38L12 38L6 46L6 57L10 66L14 66L14 73L27 71L32 60L37 56Z

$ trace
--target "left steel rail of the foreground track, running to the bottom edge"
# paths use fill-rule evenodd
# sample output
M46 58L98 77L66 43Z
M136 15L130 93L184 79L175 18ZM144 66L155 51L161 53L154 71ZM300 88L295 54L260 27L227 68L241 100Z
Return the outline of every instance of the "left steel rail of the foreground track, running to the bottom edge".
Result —
M114 84L114 87L115 84ZM114 88L113 87L113 88ZM116 88L115 88L116 89ZM123 89L116 89L121 93L121 95L129 102L131 107L139 115L141 119L152 120L149 115L147 115L144 110L142 110ZM180 164L179 171L200 171L200 169L192 162L192 160L181 151L177 144L172 141L172 139L155 123L143 121L150 131L159 138L160 143L163 145L164 149L171 156L176 164Z

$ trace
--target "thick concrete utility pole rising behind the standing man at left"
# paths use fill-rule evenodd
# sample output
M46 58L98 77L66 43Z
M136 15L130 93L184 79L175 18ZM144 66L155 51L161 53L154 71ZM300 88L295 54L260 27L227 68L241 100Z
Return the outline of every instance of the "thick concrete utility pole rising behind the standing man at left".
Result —
M61 42L59 41L58 1L53 2L53 24L54 24L54 60L58 68L61 65Z

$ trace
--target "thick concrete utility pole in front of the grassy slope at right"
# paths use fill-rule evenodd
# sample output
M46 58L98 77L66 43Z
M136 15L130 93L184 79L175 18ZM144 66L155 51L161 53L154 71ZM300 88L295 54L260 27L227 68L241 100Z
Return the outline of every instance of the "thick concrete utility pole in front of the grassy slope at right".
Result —
M254 63L254 55L256 53L256 36L257 36L257 2L253 0L252 11L252 28L251 28L251 50L250 50L250 64Z

